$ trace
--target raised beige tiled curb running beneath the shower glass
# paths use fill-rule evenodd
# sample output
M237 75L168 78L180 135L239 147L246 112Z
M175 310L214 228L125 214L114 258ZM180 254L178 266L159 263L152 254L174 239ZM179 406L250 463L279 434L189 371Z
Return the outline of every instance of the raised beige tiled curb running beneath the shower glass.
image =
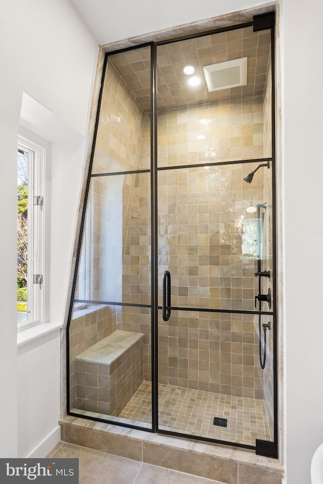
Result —
M70 415L64 417L60 425L62 441L101 452L225 484L282 484L280 462L252 451L175 439Z

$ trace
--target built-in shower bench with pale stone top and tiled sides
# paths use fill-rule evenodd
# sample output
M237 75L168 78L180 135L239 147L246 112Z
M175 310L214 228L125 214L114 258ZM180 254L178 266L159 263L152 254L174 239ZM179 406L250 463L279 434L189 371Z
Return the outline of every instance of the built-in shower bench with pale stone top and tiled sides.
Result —
M143 382L143 339L117 330L76 356L77 408L120 414Z

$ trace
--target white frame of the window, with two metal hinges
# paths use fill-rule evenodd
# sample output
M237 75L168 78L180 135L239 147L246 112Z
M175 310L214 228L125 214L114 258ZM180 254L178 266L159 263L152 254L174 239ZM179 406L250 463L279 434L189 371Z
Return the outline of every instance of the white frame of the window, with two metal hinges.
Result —
M18 149L28 152L28 317L17 324L22 331L44 322L46 148L18 135ZM35 196L42 197L42 205L34 205ZM42 284L33 283L36 274L42 275Z

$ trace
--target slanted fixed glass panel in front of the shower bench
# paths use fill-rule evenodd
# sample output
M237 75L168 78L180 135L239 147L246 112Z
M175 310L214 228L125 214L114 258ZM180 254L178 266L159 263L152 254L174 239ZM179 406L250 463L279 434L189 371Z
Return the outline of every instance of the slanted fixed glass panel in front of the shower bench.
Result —
M71 412L146 429L152 426L150 50L107 56L70 322Z

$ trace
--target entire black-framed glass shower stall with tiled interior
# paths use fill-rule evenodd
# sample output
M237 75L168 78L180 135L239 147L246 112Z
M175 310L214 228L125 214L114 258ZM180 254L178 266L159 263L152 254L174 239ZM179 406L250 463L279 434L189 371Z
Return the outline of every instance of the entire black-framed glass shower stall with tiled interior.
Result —
M278 456L274 24L106 53L69 414Z

